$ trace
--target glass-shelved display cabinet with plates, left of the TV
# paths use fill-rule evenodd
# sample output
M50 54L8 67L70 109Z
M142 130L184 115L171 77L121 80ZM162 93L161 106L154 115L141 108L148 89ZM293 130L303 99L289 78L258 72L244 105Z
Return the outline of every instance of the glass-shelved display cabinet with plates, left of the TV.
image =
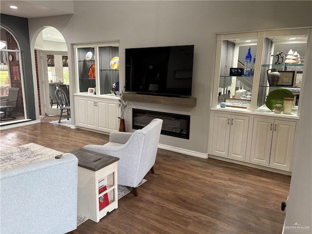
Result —
M118 42L74 45L78 93L96 89L96 95L109 94L113 83L119 83Z

